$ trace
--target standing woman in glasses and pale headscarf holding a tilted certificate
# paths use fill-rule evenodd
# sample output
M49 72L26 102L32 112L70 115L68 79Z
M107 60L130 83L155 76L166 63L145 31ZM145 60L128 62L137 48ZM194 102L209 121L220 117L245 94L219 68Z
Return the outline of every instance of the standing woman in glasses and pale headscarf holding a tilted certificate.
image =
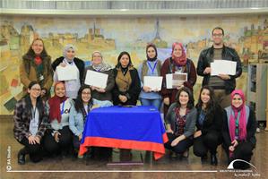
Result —
M92 98L112 101L112 90L115 86L113 69L109 64L103 63L103 57L99 51L92 53L91 66L87 67L85 72L87 72L85 83L91 85ZM102 86L101 83L103 83Z

